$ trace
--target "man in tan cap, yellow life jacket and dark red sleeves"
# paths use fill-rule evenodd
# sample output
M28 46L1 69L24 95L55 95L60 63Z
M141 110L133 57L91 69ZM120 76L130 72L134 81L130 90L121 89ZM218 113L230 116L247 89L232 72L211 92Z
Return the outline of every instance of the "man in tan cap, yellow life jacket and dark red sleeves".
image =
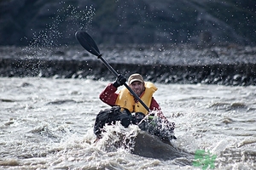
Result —
M115 82L109 83L108 86L100 94L100 99L110 105L120 105L121 107L127 108L132 112L143 112L145 115L148 115L148 111L140 104L137 99L135 99L132 94L128 91L127 88L123 88L119 94L116 93L119 86L125 84L125 77L119 75ZM166 116L163 115L160 105L156 102L153 97L154 92L157 88L151 82L144 82L143 77L140 74L132 74L128 78L128 85L131 90L137 94L140 99L148 106L150 111L157 111L158 116L166 119ZM146 94L145 94L146 92Z

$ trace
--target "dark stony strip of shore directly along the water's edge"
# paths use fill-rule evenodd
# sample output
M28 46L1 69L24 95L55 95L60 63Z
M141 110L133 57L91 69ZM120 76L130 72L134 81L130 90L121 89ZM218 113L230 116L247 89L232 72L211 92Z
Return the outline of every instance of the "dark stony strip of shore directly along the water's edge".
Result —
M109 63L129 77L139 72L145 80L160 83L256 85L256 64L140 65ZM99 59L0 59L0 77L90 78L113 81L113 74Z

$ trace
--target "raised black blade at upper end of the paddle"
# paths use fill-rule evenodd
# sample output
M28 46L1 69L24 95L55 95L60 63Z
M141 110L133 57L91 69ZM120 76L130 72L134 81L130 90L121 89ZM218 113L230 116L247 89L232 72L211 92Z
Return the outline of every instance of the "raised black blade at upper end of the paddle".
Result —
M96 42L90 37L90 35L85 31L77 31L75 33L75 37L81 44L81 46L86 49L90 54L94 54L96 56L101 55L100 50L96 45Z

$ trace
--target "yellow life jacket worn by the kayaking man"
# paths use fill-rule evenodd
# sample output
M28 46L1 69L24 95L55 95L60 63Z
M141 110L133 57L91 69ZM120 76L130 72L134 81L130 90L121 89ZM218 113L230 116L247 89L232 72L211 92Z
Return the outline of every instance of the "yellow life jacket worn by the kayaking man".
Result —
M143 100L143 103L148 106L151 105L152 97L157 88L154 86L152 82L145 82L145 91L139 96L140 99ZM144 108L144 106L139 102L135 102L136 99L130 93L127 88L122 88L119 92L119 96L115 101L115 105L119 105L120 107L124 107L131 112L143 112L145 115L148 115L148 111Z

